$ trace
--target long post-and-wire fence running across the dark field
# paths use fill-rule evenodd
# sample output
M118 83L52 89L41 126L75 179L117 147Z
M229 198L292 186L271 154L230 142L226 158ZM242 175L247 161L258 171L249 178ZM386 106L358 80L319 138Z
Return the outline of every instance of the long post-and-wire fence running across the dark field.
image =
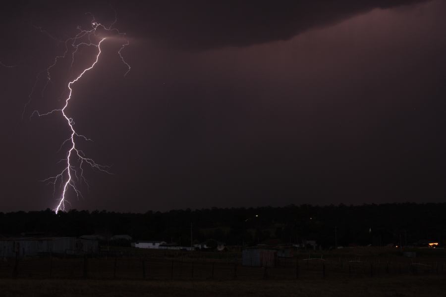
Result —
M443 259L444 260L444 259ZM276 267L242 266L240 259L29 257L3 259L0 278L260 280L446 274L444 261L279 258Z

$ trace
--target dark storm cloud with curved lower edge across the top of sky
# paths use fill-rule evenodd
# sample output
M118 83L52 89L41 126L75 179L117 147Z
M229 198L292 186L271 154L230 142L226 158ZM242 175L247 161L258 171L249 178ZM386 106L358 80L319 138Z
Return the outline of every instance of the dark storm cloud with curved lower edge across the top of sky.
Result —
M16 1L1 13L3 22L23 16L66 36L65 23L91 12L111 23L115 7L119 27L130 37L180 49L214 49L289 40L313 28L333 25L374 8L392 8L427 0L155 0L155 1ZM88 25L88 18L84 18Z

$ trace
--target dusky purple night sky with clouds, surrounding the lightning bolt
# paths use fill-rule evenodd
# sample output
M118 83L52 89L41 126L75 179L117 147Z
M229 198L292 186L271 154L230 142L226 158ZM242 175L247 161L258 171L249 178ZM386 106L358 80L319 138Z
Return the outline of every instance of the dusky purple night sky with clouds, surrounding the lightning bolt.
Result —
M70 208L445 201L446 1L36 2L0 12L0 211L56 206L41 180L69 131L30 115L63 106L97 49L61 59L43 94L41 74L23 107L57 40L111 6L131 71L105 41L67 111L113 174L86 169Z

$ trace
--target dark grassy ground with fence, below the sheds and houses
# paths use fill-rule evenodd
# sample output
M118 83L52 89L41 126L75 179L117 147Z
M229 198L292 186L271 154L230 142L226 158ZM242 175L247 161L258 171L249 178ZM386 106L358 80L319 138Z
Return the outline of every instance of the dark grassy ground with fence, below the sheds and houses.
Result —
M25 257L17 266L14 260L0 264L1 296L421 297L446 292L442 249L421 250L416 258L371 247L301 252L274 267L243 266L240 256L114 248L89 258Z

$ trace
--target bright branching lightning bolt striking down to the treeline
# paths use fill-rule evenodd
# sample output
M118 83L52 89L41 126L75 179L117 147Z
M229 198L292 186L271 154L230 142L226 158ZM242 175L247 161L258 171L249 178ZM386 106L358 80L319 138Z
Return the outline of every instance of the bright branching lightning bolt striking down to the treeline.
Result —
M63 141L59 148L59 150L61 150L64 146L66 146L66 144L69 144L69 148L67 149L67 152L66 152L66 158L59 161L59 162L65 161L65 166L64 166L63 170L56 176L52 176L52 177L49 177L49 178L43 180L44 182L53 184L53 187L54 187L53 195L54 196L56 196L56 186L60 185L61 194L60 194L60 197L58 198L57 206L54 208L54 211L56 213L58 213L59 211L64 211L66 209L66 207L65 207L66 204L70 203L67 200L67 194L70 189L76 194L76 197L79 198L79 197L82 197L82 194L78 189L78 184L81 184L82 182L84 182L87 186L89 186L87 183L87 180L85 179L85 177L83 175L83 172L84 172L83 165L85 163L87 163L93 169L97 169L99 171L111 174L109 172L109 168L110 168L109 166L104 166L104 165L100 165L100 164L96 163L93 159L87 157L82 150L77 148L77 146L76 146L77 140L79 140L79 139L84 140L84 141L91 141L91 140L89 138L85 137L84 135L78 134L76 132L75 127L74 127L75 123L74 123L73 118L69 117L66 114L66 108L68 107L68 103L71 99L71 94L73 91L72 86L78 80L80 80L86 72L93 69L94 66L98 63L99 57L101 56L101 52L102 52L101 46L102 46L103 42L107 38L109 38L107 36L99 37L99 35L102 35L99 33L99 31L102 30L107 33L114 32L117 35L124 38L125 42L121 45L121 47L117 53L118 53L121 61L127 67L127 71L124 73L124 76L126 76L127 73L131 69L130 65L125 61L125 59L121 53L121 51L126 46L128 46L130 44L129 40L125 37L125 33L121 33L121 32L119 32L119 30L112 28L112 26L116 23L116 12L115 12L114 21L108 27L97 22L94 15L92 15L91 13L86 13L86 14L91 15L93 18L91 21L92 29L82 30L80 28L80 26L78 26L77 29L79 30L79 32L75 36L68 38L67 40L65 40L63 42L65 45L65 50L64 50L63 54L56 56L54 59L54 62L51 65L49 65L46 69L40 71L37 74L36 81L32 87L31 93L28 96L29 100L25 104L24 109L23 109L23 114L24 114L25 110L27 109L28 104L31 102L31 100L33 98L35 88L37 86L37 83L38 83L41 75L45 73L46 74L46 82L45 82L45 85L41 91L41 97L44 97L45 90L46 90L48 84L52 81L52 78L51 78L52 68L56 66L56 64L59 60L65 59L68 56L70 49L72 50L72 52L70 54L71 55L70 69L74 65L75 54L78 52L78 49L81 46L96 47L98 49L98 53L96 54L96 59L94 60L94 62L88 68L85 68L76 78L74 78L71 81L68 81L68 83L67 83L68 96L64 100L65 104L63 105L62 108L53 109L51 111L44 112L44 113L41 113L38 110L34 110L30 116L30 118L31 118L34 115L41 117L41 116L47 116L47 115L54 114L54 113L60 113L63 116L64 120L66 121L66 124L68 125L69 131L70 131L70 137L68 139L66 139L65 141ZM42 29L41 27L36 27L36 26L34 26L34 27L36 29L38 29L40 32L51 37L53 40L58 41L48 31ZM95 43L95 40L99 40L99 42ZM22 114L22 117L23 117L23 114Z

